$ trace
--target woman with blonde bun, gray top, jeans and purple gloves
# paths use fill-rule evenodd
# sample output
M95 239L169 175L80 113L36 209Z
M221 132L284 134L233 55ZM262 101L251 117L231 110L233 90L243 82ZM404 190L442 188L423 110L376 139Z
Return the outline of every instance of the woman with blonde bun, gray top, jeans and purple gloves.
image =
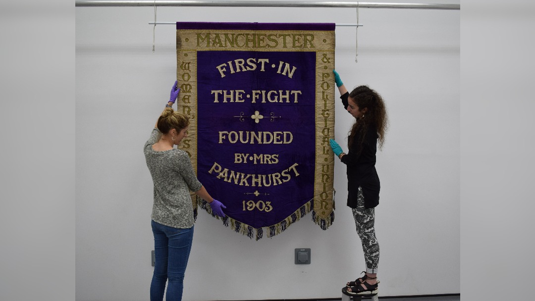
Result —
M208 194L197 180L188 154L174 148L188 136L188 117L175 112L172 105L180 88L177 82L163 113L152 129L143 151L154 184L151 226L154 234L155 267L150 300L162 301L167 282L167 301L182 299L184 274L193 241L193 205L189 191L206 200L212 212L225 217L225 205Z

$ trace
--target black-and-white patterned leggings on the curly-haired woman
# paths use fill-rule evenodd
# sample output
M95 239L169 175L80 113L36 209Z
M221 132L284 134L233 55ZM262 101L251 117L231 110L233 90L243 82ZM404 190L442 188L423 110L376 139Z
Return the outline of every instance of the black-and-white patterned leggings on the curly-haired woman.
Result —
M358 188L357 207L353 208L353 218L357 227L358 236L361 238L364 260L366 261L366 273L377 273L379 265L379 243L375 237L375 208L364 208L362 188Z

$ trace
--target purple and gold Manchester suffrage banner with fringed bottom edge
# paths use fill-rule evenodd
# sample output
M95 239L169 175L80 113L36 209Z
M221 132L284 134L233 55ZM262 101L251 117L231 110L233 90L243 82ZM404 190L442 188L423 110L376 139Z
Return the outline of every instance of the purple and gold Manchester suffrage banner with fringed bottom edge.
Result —
M177 22L180 148L232 230L334 221L334 42L334 24Z

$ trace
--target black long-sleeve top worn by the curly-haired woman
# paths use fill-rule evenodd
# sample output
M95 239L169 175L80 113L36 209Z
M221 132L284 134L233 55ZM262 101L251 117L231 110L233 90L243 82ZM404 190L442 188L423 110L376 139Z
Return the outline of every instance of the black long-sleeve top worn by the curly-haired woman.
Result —
M347 110L349 92L340 96L343 106ZM347 205L357 207L358 187L362 188L364 207L373 208L379 205L380 182L375 168L377 152L377 128L369 126L364 135L362 151L358 152L357 141L360 137L355 136L353 145L349 147L346 155L342 156L342 163L347 166ZM349 146L349 145L348 145Z

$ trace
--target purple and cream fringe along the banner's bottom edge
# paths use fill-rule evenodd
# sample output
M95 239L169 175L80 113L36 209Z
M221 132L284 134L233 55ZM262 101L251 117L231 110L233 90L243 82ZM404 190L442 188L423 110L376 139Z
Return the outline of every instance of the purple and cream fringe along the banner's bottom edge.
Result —
M197 206L201 207L204 211L208 212L212 217L216 219L220 219L223 221L223 225L225 227L230 227L231 230L234 230L236 233L241 233L242 235L246 235L247 237L253 239L255 237L255 240L258 241L264 236L264 229L266 228L266 237L273 237L278 234L281 234L284 232L292 223L295 223L299 221L302 217L307 215L310 211L312 211L312 206L314 203L314 199L309 200L307 203L305 203L303 206L301 206L299 209L297 209L294 213L292 213L289 217L286 219L280 221L279 223L276 223L275 225L271 225L268 227L261 227L261 228L254 228L252 226L249 226L245 223L242 223L240 221L237 221L230 217L224 217L220 218L216 214L212 212L212 208L208 204L207 201L202 199L201 197L197 196ZM195 220L197 220L197 208L194 209L194 217ZM316 214L314 211L312 211L312 220L315 221L320 227L322 227L322 224L320 223L322 220L318 222L318 218L316 217ZM331 213L331 217L329 218L329 221L326 223L323 221L324 225L327 225L325 228L322 227L322 229L326 229L328 226L331 225L332 221L334 221L334 213Z

